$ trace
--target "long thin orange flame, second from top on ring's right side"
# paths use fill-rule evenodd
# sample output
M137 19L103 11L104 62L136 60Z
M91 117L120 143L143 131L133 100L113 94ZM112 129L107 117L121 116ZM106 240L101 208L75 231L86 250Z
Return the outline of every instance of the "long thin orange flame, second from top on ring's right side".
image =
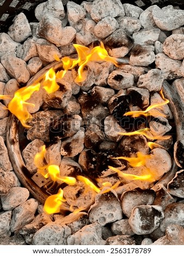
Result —
M154 136L154 135L152 135L152 133L150 131L151 130L149 128L144 128L144 129L140 129L140 130L133 131L133 132L120 132L119 134L120 135L125 135L125 136L144 135L148 139L169 139L171 137L170 135Z

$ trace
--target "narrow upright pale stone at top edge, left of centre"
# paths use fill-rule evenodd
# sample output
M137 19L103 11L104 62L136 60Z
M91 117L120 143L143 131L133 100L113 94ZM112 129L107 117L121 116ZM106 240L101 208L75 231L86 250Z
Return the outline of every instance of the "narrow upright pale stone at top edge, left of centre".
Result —
M68 21L70 26L72 26L73 28L78 28L77 32L79 32L82 28L82 21L85 17L85 9L72 1L69 1L66 4L67 7L67 14L68 14Z

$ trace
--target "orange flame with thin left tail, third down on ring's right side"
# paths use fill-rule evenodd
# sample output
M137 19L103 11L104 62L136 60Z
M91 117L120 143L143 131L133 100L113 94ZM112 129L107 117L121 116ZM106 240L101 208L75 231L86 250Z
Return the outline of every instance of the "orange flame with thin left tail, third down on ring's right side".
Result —
M137 152L137 157L125 157L125 156L119 156L119 157L113 157L113 159L122 159L126 160L130 166L132 167L140 167L144 166L147 159L150 159L150 155L144 155L141 152Z

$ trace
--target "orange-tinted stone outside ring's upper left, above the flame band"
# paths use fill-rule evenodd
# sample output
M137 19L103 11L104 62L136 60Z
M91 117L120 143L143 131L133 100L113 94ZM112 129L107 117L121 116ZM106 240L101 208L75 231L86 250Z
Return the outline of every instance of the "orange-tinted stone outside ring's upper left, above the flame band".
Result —
M36 48L38 51L38 56L43 62L54 62L54 56L56 54L59 58L62 57L58 48L45 39L40 38L36 40Z

